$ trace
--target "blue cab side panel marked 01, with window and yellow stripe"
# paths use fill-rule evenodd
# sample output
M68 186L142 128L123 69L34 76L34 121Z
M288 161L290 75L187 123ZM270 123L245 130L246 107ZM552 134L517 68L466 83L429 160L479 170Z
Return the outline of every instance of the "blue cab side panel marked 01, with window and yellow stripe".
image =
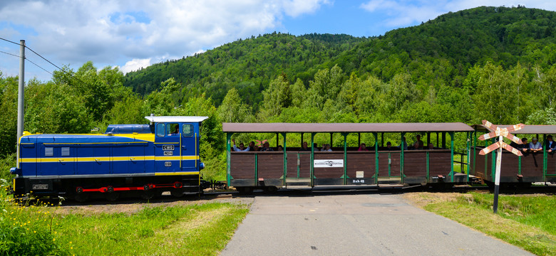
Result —
M155 165L156 172L180 171L180 125L156 124Z

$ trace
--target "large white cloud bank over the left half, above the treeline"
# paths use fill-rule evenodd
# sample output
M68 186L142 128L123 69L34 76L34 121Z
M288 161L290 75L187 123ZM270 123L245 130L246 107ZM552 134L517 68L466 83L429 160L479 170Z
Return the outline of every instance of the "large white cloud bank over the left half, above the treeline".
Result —
M322 4L330 1L12 1L0 4L0 26L8 26L0 31L26 28L8 39L24 38L30 48L73 68L93 60L127 62L122 70L133 70L271 32L284 16L311 14ZM0 63L0 70L5 68Z

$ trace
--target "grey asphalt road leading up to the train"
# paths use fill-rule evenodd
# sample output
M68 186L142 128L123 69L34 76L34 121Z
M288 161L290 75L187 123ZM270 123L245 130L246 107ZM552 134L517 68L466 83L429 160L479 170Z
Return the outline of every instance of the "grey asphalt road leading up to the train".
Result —
M221 255L531 255L400 196L256 196Z

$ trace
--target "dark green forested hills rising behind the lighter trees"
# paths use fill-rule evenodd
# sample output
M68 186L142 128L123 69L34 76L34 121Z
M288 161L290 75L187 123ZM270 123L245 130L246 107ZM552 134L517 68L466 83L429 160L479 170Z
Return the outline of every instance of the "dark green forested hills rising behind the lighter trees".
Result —
M272 33L128 73L125 85L146 95L175 78L184 89L180 99L206 92L216 105L235 87L255 110L260 92L278 75L289 82L300 78L307 87L317 70L334 65L361 78L373 75L388 81L397 73L409 73L423 86L439 80L460 86L470 67L488 61L503 68L552 65L555 27L552 11L483 6L374 38Z

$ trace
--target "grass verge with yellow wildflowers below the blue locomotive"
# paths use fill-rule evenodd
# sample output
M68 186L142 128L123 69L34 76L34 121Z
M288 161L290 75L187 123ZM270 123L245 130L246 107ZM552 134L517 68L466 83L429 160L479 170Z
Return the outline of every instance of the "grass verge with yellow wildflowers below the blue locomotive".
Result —
M202 203L63 215L53 206L3 203L0 225L13 231L0 232L0 255L218 255L248 211ZM30 246L36 250L17 251Z

